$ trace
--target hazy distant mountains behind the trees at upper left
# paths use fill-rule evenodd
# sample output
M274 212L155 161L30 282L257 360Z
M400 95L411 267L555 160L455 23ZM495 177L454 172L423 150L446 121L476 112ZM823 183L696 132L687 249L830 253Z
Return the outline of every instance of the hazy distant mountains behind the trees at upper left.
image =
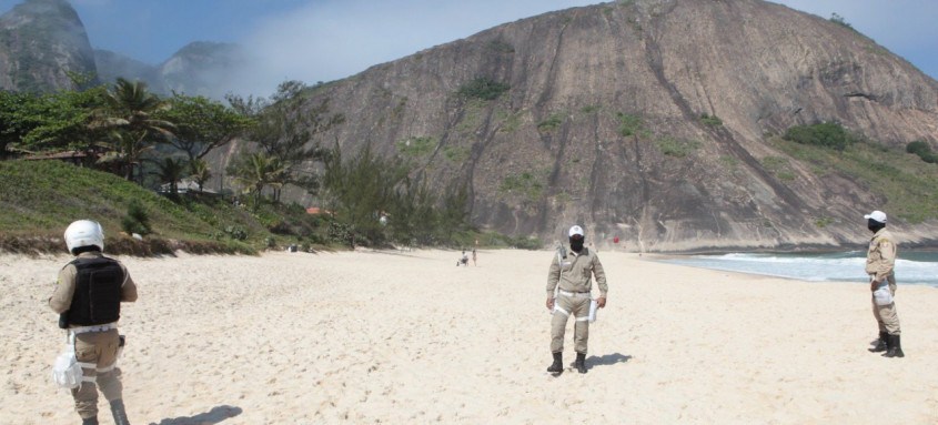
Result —
M0 16L0 89L48 92L74 89L69 73L145 81L162 95L173 91L214 99L232 91L232 69L244 61L231 43L193 42L153 65L93 50L75 10L65 0L26 0Z

